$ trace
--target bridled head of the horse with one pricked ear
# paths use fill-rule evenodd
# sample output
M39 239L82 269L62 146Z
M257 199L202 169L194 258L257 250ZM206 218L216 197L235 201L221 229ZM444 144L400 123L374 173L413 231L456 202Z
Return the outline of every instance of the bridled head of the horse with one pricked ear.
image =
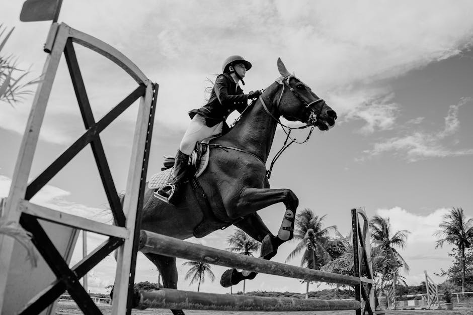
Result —
M312 92L294 73L287 71L281 58L278 58L278 70L281 76L276 81L282 85L276 104L279 114L289 121L300 121L307 126L317 126L320 130L332 128L337 113L325 100Z

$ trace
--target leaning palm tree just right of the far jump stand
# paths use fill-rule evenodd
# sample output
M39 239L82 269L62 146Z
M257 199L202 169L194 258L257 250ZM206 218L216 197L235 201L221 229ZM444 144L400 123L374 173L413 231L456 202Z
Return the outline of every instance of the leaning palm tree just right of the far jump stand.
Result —
M371 241L373 242L373 247L379 247L386 253L386 255L396 259L399 266L403 265L406 272L409 272L409 265L396 248L404 249L406 246L407 235L411 232L402 230L392 234L389 218L384 219L379 216L374 216L369 221L369 227L371 229Z

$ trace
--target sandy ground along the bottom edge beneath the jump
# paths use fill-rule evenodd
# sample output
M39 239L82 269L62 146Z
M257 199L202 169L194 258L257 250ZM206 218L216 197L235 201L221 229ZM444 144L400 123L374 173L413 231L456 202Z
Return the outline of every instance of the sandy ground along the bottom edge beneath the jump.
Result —
M100 310L104 314L110 314L112 307L107 304L99 304ZM82 311L71 302L60 302L57 304L56 309L57 315L69 315L69 314L82 314ZM134 315L172 315L170 310L166 309L156 309L148 308L145 310L133 310L132 314ZM355 315L354 310L337 310L337 311L318 311L318 312L308 312L308 311L295 311L295 312L248 312L248 311L211 311L211 310L186 310L186 314L189 315L285 315L285 314L294 314L294 315ZM473 302L470 303L454 303L453 310L386 310L386 315L425 315L425 314L435 314L435 315L473 315Z

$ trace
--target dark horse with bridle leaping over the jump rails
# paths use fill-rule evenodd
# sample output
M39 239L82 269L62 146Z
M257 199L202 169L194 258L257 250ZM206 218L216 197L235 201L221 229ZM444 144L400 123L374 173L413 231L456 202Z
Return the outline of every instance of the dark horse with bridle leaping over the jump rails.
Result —
M266 178L265 162L279 118L282 116L289 121L303 122L325 131L334 126L337 115L306 84L289 73L280 59L278 70L281 77L264 90L239 122L228 133L210 142L241 149L210 146L210 160L199 182L208 196L214 215L205 216L200 210L189 183L182 190L177 205L155 198L153 190L147 189L141 229L187 239L195 235L196 229L199 229L196 236L202 237L233 224L262 242L261 258L264 259L271 259L278 246L292 238L299 201L290 189L271 189ZM257 211L279 202L284 203L286 210L281 228L274 236ZM149 253L145 255L160 270L164 286L176 289L176 258ZM230 286L243 279L253 279L255 275L254 272L229 269L222 275L220 283ZM172 311L174 314L184 314L182 310Z

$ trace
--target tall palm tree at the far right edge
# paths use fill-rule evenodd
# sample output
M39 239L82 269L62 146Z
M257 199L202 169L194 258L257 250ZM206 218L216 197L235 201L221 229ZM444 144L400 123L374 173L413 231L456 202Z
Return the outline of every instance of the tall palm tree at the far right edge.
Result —
M461 253L463 274L461 276L461 291L465 291L465 248L469 248L473 242L473 219L466 220L463 209L452 208L450 212L443 216L439 227L442 229L435 233L441 237L435 245L435 249L443 247L443 244L458 246Z

